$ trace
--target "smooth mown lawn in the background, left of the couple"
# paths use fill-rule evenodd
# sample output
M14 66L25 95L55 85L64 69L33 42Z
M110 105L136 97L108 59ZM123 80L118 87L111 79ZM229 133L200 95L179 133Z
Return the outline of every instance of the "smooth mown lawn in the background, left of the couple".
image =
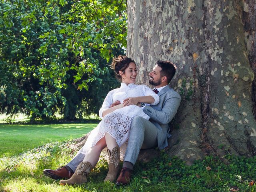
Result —
M97 124L0 124L0 157L20 154L42 144L78 138Z

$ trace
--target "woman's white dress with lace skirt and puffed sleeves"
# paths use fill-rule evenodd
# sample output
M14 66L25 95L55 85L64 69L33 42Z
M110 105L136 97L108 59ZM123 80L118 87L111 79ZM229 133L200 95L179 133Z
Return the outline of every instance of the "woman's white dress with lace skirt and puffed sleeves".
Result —
M123 102L123 100L128 97L138 96L152 96L155 101L151 105L156 105L159 102L159 96L146 85L126 85L125 83L121 83L120 88L108 92L99 111L102 121L91 131L90 135L88 136L86 143L81 150L83 154L86 154L92 146L94 146L102 137L104 137L106 132L115 138L119 146L122 146L128 140L132 119L135 116L141 116L147 120L150 118L144 113L142 108L136 105L116 109L113 112L105 115L104 118L102 117L103 110L110 108L110 105L114 101L120 100Z

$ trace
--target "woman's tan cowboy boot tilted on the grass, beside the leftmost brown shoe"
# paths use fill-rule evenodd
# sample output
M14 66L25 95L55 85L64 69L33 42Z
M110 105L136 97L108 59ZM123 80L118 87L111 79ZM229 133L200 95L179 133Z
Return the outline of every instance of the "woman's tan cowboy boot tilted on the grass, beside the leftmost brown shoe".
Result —
M77 166L74 175L72 175L72 177L68 180L60 180L60 185L74 185L86 183L88 174L91 172L92 168L92 165L88 161L80 163Z

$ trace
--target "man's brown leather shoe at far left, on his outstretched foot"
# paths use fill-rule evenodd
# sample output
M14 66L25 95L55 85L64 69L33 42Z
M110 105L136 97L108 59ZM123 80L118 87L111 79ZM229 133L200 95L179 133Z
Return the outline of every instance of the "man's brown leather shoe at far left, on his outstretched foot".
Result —
M43 173L45 176L50 177L51 179L69 179L74 172L69 171L66 166L62 166L56 170L51 170L51 169L45 169L43 170Z

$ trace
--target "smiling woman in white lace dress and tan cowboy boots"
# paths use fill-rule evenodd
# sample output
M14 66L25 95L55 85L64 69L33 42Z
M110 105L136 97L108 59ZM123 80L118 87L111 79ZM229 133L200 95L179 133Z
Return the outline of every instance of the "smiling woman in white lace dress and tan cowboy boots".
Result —
M142 110L144 103L156 105L159 102L159 96L148 86L135 84L137 69L134 60L126 56L118 56L113 59L111 68L114 69L121 86L108 92L99 111L102 121L92 130L83 148L78 152L78 154L84 154L83 161L77 168L67 164L75 170L75 173L70 179L61 180L61 185L87 182L88 174L96 166L100 152L105 147L107 147L110 163L104 181L114 182L119 171L120 146L128 140L132 119L135 116L141 116L148 120L150 117ZM120 104L111 107L111 104L116 101L120 101Z

